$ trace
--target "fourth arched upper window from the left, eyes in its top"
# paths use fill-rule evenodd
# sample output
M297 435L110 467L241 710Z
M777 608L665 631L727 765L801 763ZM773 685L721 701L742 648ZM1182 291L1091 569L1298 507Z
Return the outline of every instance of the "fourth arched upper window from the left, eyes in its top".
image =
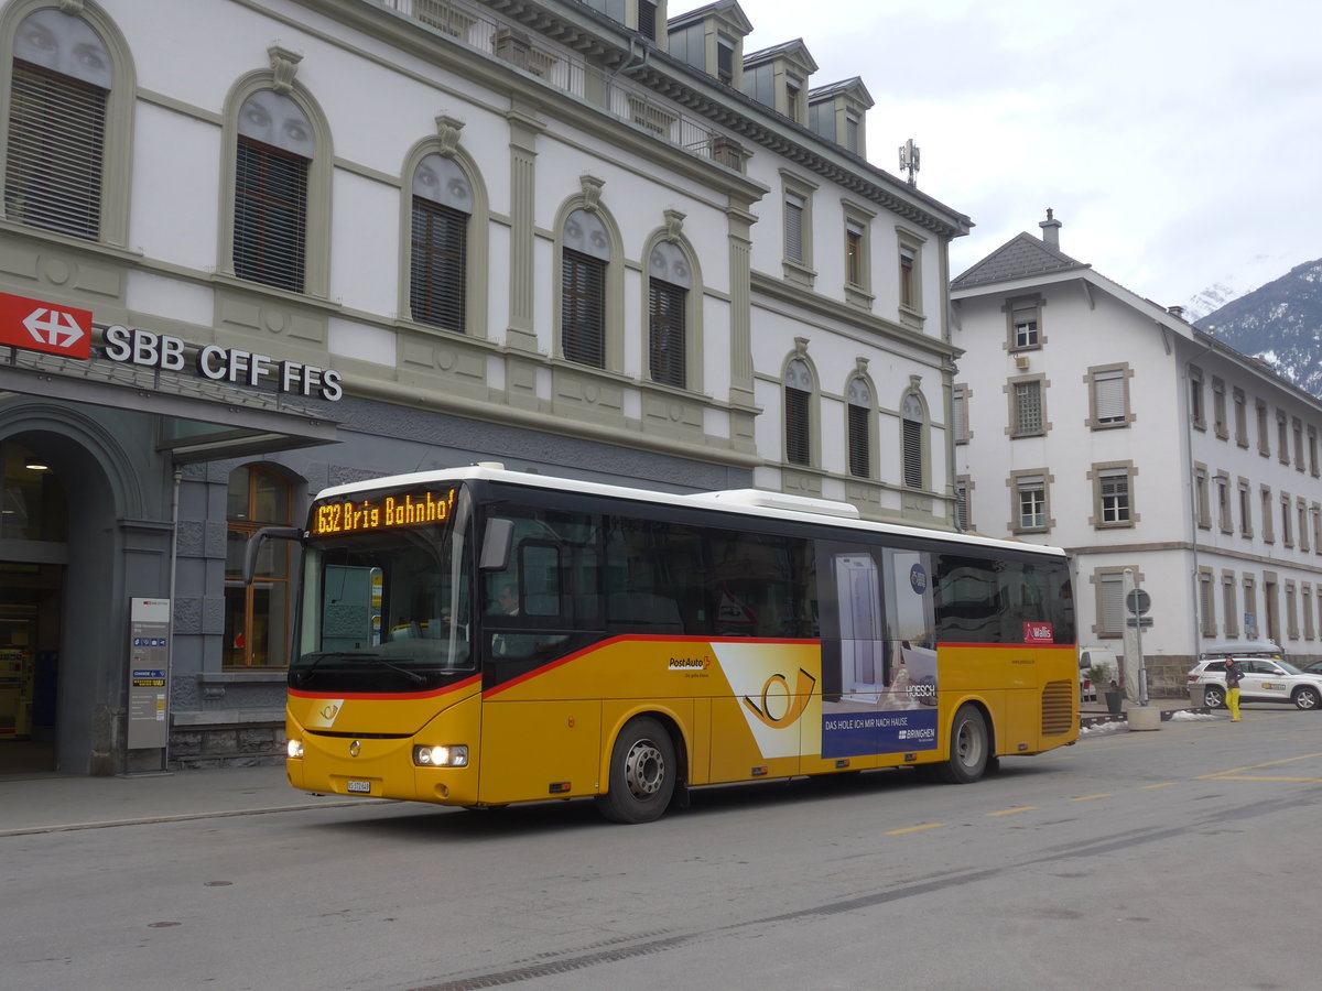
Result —
M561 251L561 349L568 361L605 367L605 271L611 239L602 218L574 210Z

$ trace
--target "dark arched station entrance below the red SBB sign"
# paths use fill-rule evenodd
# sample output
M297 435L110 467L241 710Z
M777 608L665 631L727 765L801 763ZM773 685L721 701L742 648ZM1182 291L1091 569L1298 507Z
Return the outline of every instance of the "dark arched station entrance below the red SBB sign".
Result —
M0 773L123 769L124 532L141 518L145 469L130 464L81 412L0 411L4 506L15 509L0 514L0 620L13 620L0 624L0 657L15 678Z

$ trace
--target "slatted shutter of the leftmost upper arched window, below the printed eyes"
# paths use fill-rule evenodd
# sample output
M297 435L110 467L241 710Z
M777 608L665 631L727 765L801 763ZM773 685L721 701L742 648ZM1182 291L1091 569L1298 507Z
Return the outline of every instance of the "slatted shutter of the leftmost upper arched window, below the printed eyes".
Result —
M15 59L5 215L95 240L108 91Z

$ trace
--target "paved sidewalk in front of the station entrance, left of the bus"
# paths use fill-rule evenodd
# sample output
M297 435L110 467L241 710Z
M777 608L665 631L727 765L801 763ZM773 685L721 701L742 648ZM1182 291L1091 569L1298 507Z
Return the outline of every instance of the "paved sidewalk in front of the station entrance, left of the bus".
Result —
M0 836L217 815L262 815L381 799L319 797L290 788L284 764L128 777L0 776Z

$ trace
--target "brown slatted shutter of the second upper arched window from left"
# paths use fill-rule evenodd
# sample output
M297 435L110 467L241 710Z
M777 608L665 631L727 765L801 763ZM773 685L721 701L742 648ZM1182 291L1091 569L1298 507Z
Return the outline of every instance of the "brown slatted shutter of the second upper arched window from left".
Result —
M308 160L241 135L234 188L234 274L303 292L307 214Z

